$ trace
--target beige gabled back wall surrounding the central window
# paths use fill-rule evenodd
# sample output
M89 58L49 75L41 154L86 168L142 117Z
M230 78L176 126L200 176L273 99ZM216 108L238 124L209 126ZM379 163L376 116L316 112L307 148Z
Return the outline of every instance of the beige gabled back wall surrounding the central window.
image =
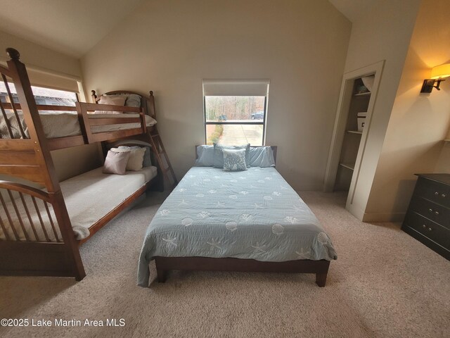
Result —
M270 79L266 144L321 189L351 24L328 1L146 1L82 58L86 89L155 92L179 178L204 142L202 80Z

